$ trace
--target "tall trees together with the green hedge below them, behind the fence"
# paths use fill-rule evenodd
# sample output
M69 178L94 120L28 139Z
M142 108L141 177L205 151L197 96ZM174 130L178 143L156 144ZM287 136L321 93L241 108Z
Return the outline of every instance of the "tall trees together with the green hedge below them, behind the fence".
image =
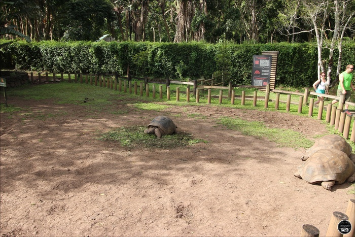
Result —
M250 84L253 54L279 51L276 83L298 87L320 71L334 84L355 59L350 0L5 0L1 8L2 68L124 74L129 66L135 75ZM4 40L21 34L32 43ZM115 42L96 42L104 35Z

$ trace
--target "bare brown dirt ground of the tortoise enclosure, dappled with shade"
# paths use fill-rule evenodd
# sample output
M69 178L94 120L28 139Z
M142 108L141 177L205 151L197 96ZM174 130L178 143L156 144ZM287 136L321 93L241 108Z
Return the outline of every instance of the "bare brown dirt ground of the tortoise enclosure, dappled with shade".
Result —
M315 119L208 105L156 112L117 103L111 110L124 113L112 114L50 100L8 103L23 110L1 114L2 236L299 236L303 224L325 235L332 213L354 198L350 184L327 191L294 177L304 149L216 122L264 121L312 139L326 132ZM97 140L158 115L208 143L129 150Z

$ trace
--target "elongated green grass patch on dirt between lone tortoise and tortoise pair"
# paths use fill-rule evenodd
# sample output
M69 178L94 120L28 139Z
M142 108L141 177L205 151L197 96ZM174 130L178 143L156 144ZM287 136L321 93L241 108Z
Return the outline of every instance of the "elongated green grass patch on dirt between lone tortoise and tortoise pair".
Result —
M280 147L299 149L309 148L314 144L299 132L291 129L268 128L258 121L250 122L239 118L222 117L218 120L218 124L224 125L228 129L238 130L245 136L252 136L257 139L267 138Z

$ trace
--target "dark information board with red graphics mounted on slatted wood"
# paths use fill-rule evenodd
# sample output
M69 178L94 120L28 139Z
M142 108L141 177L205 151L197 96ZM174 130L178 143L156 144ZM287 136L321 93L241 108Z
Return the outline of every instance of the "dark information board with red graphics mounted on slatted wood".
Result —
M252 86L270 83L271 59L271 55L253 55Z

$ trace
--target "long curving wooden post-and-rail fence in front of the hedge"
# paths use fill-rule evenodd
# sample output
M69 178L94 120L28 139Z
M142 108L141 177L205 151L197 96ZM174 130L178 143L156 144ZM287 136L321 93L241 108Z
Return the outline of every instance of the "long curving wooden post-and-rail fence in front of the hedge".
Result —
M34 82L34 76L33 73L31 74L31 82ZM38 73L38 81L39 83L42 82L59 82L63 80L63 73L60 73L60 78L57 78L55 73L51 73L52 76L48 74L48 72L45 73L45 77L42 78L41 73ZM59 75L59 74L58 74ZM115 79L113 79L113 76L115 76ZM132 85L132 79L134 79L133 85ZM44 81L45 80L45 81ZM68 82L72 82L72 74L68 74ZM340 133L343 134L343 137L345 139L349 139L349 134L350 134L350 127L351 127L351 122L352 122L352 116L346 115L345 112L343 112L343 106L344 104L341 102L343 101L344 95L341 97L337 97L334 95L327 95L327 94L319 94L315 93L313 91L309 91L309 88L305 88L304 93L299 93L299 92L292 92L292 91L283 91L283 90L276 90L276 89L270 89L270 84L266 86L247 86L247 85L233 85L231 82L228 84L228 86L218 86L213 84L213 79L200 79L200 80L193 80L192 82L181 82L181 81L171 81L170 79L166 79L165 82L154 82L150 81L147 77L146 78L139 78L139 77L131 77L128 75L127 77L122 77L119 76L117 73L116 74L111 74L111 75L99 75L99 74L81 74L81 73L76 73L74 74L74 82L76 83L85 83L85 84L90 84L90 85L95 85L95 86L100 86L100 87L107 87L111 88L114 90L118 91L123 91L123 92L128 92L134 94L138 94L138 81L139 82L139 94L140 96L144 95L144 90L145 94L147 97L150 95L150 90L149 90L149 84L152 84L152 97L156 98L156 93L158 93L156 85L159 85L159 98L163 98L163 86L166 86L166 95L167 99L170 100L170 95L171 92L176 93L176 101L180 101L180 93L186 93L186 101L190 101L190 93L193 93L194 96L196 97L196 103L199 103L200 99L200 91L203 92L207 90L207 103L211 103L211 98L212 97L218 97L219 98L219 103L222 104L223 99L228 99L231 100L231 104L235 104L235 98L240 98L241 105L245 105L245 100L246 99L252 99L253 100L253 107L257 106L257 100L264 100L264 108L267 109L269 106L269 101L272 101L275 103L275 110L279 109L279 103L286 103L286 111L290 112L290 105L291 104L296 104L298 105L298 113L302 113L303 107L308 106L308 116L312 117L313 116L313 108L314 108L314 98L309 98L309 95L316 95L316 96L323 96L326 98L332 98L332 99L338 99L340 102L337 106L332 106L332 104L328 104L326 108L324 108L324 101L320 101L319 107L318 107L318 114L317 114L317 119L322 120L323 119L323 110L326 109L326 117L325 120L327 123L330 123L330 125L334 126L336 130L338 130ZM206 83L210 83L210 85L207 85ZM175 85L188 85L186 88L186 92L180 91L180 87L176 87L176 91L170 91L170 84L175 84ZM190 90L190 86L193 88ZM258 91L254 91L253 96L246 96L245 91L242 91L240 95L235 94L234 88L256 88L256 89L263 89L265 90L265 96L258 96ZM211 89L217 89L219 90L219 95L212 95L211 94ZM227 96L223 96L223 91L227 92ZM275 99L270 100L270 93L275 93ZM280 94L287 94L287 100L282 101L280 100ZM291 96L299 96L298 102L292 102L291 101ZM309 102L308 102L309 99ZM345 102L345 104L348 104L350 106L355 106L355 103L349 103ZM350 134L350 141L355 142L355 122L352 124L352 130Z

